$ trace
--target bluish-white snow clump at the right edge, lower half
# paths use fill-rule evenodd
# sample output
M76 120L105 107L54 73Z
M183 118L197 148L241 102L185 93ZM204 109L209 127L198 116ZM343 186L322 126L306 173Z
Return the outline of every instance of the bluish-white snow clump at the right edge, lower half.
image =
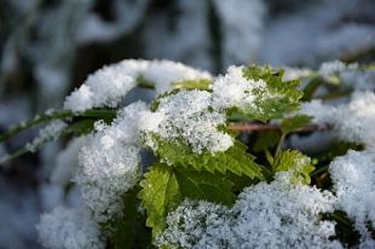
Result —
M375 228L375 154L349 151L329 165L339 208L354 220L362 240L370 243L369 224ZM371 247L375 246L372 240Z

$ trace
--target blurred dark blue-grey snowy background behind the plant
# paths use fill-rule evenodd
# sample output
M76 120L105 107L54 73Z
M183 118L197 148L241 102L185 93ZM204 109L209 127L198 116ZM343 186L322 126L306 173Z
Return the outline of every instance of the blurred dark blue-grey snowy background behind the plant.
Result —
M375 1L0 0L0 133L62 107L90 73L125 58L167 58L213 74L233 64L374 62ZM35 134L0 144L0 157ZM64 146L52 142L0 167L0 248L40 248L40 214L75 205L74 191L50 177Z

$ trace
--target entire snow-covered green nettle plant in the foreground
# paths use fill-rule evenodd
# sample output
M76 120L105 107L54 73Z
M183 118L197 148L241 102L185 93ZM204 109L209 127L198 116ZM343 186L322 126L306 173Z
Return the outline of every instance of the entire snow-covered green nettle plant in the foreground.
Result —
M135 88L156 97L125 105ZM46 248L374 248L374 88L339 61L212 77L124 60L1 135L50 122L3 161L73 137L52 179L83 205L41 216Z

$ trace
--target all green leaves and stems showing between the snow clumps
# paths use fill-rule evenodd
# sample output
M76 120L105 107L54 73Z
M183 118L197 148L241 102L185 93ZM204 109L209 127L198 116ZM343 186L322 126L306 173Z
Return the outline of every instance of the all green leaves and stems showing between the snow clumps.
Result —
M282 70L273 70L268 66L252 65L244 68L245 78L264 80L267 89L255 88L253 90L255 107L248 107L245 110L238 108L226 110L228 120L231 122L247 120L265 122L282 119L280 127L275 125L275 127L265 128L273 130L254 131L253 137L256 139L251 141L251 149L260 155L256 162L255 157L248 152L247 145L234 139L238 132L229 129L231 126L226 124L217 127L218 130L233 137L233 146L225 152L211 153L204 150L196 153L189 144L179 139L169 141L151 134L155 156L152 166L142 176L143 179L139 185L122 195L123 215L115 216L107 223L100 224L102 235L107 239L107 248L150 248L152 239L157 238L164 231L168 213L174 211L186 198L231 206L243 188L259 181L271 181L272 176L278 171L291 172L293 184L310 184L311 178L315 183L323 175L321 173L327 171L328 164L334 157L346 154L348 149L364 149L361 144L338 142L333 144L329 151L315 155L316 162L314 163L310 157L297 150L282 150L287 134L300 131L312 120L312 117L307 115L292 117L285 117L285 115L289 116L290 113L298 110L300 100L311 100L322 84L327 85L322 77L314 76L315 78L312 78L302 93L298 90L300 84L298 80L282 81L282 74ZM154 88L154 83L142 77L137 78L137 83L143 88ZM210 84L211 80L205 79L173 83L173 90L159 95L150 105L150 109L157 110L162 98L181 90L210 91L208 89ZM334 88L338 89L339 86L336 85ZM213 108L208 108L208 112L211 111ZM58 134L60 137L81 136L93 132L94 123L97 120L110 124L115 119L116 112L117 110L87 110L80 113L73 113L70 110L49 112L9 129L8 132L0 135L0 142L24 129L34 125L48 124L53 120L63 120L68 124L63 132ZM56 137L51 136L51 139ZM48 141L46 139L37 145L41 146ZM26 152L28 152L27 147L23 147L6 159L19 157ZM316 170L315 164L317 164ZM324 175L329 177L329 174ZM140 211L141 208L144 208L146 212ZM344 243L358 241L359 234L354 231L353 224L346 214L335 212L328 214L326 218L337 221L337 235ZM373 228L371 229L374 231ZM347 236L352 236L352 238L343 239ZM356 244L353 243L353 245Z

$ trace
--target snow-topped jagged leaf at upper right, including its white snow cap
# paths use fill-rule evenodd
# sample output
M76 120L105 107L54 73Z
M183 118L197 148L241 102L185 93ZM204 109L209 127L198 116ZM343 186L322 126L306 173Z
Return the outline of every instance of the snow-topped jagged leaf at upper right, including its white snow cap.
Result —
M282 81L282 70L230 67L212 85L214 107L234 109L252 120L270 120L297 110L299 81Z

